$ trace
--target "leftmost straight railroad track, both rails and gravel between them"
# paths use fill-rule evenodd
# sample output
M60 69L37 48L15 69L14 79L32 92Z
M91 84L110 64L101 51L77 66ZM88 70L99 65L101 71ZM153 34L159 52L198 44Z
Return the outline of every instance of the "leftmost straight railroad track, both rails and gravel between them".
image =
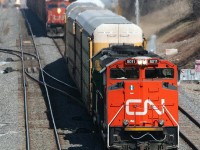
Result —
M61 150L49 93L43 74L43 60L40 58L32 29L25 15L24 18L30 33L30 36L27 33L21 34L19 40L22 58L26 149L47 148ZM21 32L23 33L24 30L21 30ZM24 55L24 52L34 53L35 57L27 57ZM40 80L40 83L44 87L43 93L40 85L28 79L27 75ZM43 96L47 100L46 103Z

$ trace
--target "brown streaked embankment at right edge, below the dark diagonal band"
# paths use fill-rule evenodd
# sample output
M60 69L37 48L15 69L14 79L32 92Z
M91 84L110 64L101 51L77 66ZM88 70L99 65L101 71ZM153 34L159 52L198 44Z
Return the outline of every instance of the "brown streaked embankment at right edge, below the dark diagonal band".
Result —
M194 68L194 61L200 59L200 19L178 25L162 36L158 43L162 55L166 48L179 50L176 55L168 57L164 55L165 58L173 61L180 68Z

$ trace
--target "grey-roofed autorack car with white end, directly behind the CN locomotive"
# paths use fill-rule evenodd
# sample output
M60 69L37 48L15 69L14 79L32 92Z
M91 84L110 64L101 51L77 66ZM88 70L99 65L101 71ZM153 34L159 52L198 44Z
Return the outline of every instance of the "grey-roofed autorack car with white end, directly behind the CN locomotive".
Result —
M70 7L71 5L69 8ZM79 6L76 7L77 9L81 8ZM102 48L109 47L113 44L124 43L125 41L126 43L128 42L127 44L133 44L131 43L132 41L124 40L123 38L127 35L129 36L129 34L135 34L134 36L136 36L136 32L133 32L133 30L138 31L138 35L135 39L137 44L140 43L140 45L142 45L143 39L141 29L136 25L132 25L132 23L127 21L124 17L118 16L109 10L91 10L93 8L89 8L90 10L84 11L84 9L77 10L76 7L71 7L71 11L67 12L70 17L70 19L68 19L69 22L72 20L74 23L73 26L72 22L70 23L70 32L75 32L74 69L77 71L75 71L75 74L71 75L76 78L76 82L81 81L81 85L80 82L77 84L79 84L78 87L80 87L80 91L84 94L82 98L87 102L90 99L89 93L91 93L90 69L92 67L92 56L98 53ZM87 8L86 6L84 7ZM119 25L122 25L121 28L128 27L129 29L121 29L120 31ZM140 39L138 38L139 34L141 35ZM123 37L120 39L119 36ZM89 73L86 73L86 71ZM77 73L80 73L81 76L78 76Z

